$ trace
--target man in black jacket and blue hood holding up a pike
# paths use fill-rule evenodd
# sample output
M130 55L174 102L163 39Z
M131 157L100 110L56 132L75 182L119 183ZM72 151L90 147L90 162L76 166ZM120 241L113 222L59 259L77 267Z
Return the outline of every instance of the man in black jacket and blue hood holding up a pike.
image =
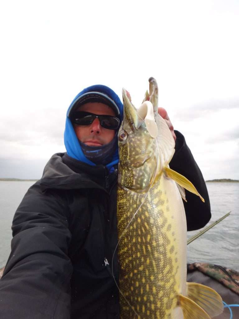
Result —
M159 109L176 139L170 167L192 181L205 204L186 192L188 230L210 219L202 174L185 139ZM104 85L80 92L67 111L66 153L48 161L12 225L11 254L0 281L4 319L119 318L116 191L117 132L123 106ZM176 138L177 137L177 138ZM108 267L108 264L110 267Z

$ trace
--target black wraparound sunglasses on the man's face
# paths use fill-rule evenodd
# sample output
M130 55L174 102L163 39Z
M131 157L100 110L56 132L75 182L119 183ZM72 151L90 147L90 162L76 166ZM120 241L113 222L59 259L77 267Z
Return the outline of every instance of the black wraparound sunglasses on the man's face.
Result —
M111 115L98 115L90 112L76 111L74 112L70 120L72 123L78 125L90 125L95 118L99 119L100 125L108 130L117 130L120 126L120 120Z

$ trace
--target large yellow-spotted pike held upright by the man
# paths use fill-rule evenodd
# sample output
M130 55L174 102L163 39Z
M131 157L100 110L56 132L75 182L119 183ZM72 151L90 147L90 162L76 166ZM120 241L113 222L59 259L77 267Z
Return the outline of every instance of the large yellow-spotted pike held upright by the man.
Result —
M223 311L213 289L186 282L184 189L200 196L169 167L175 142L158 115L158 87L136 109L123 89L117 190L120 318L209 319ZM200 196L203 200L203 198ZM204 200L203 200L204 201Z

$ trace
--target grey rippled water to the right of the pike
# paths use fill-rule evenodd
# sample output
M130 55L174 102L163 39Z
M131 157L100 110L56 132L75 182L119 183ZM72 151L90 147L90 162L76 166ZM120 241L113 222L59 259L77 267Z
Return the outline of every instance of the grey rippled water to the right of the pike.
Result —
M239 271L239 183L206 183L212 218L210 225L230 215L187 246L188 262L214 263ZM189 239L199 231L187 233Z

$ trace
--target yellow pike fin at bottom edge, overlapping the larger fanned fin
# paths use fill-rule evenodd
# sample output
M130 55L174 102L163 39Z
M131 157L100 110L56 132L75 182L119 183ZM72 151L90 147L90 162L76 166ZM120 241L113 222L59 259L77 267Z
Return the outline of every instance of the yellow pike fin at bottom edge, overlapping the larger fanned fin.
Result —
M184 319L211 319L209 315L194 302L193 300L183 296L178 296L179 306L183 310Z

